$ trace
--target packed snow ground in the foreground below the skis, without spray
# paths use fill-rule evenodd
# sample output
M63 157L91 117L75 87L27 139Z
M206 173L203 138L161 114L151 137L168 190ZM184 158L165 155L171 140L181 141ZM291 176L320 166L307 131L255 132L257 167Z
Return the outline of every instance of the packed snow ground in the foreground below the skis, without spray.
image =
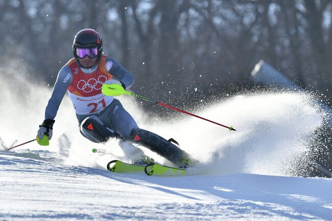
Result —
M2 220L331 220L332 180L254 174L149 177L0 152Z

